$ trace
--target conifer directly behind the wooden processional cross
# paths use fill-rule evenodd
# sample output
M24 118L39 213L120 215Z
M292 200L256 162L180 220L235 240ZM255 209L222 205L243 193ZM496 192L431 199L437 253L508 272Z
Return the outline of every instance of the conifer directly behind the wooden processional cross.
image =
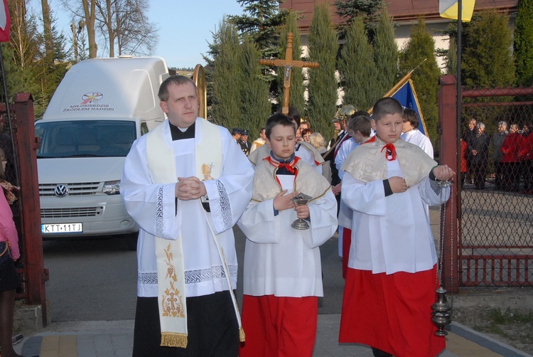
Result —
M281 37L279 38L279 47L281 48L280 58L285 58L285 52L287 46L287 33L293 33L293 52L292 60L301 60L302 58L302 48L301 48L301 37L300 29L298 28L298 14L294 11L290 11L286 18L286 23L281 28ZM277 69L277 84L279 95L278 100L278 109L281 110L283 105L283 83L285 80L285 73L281 69ZM289 98L289 105L298 108L303 112L306 107L306 99L304 97L304 92L306 87L303 85L303 70L302 68L294 67L291 69L291 97Z

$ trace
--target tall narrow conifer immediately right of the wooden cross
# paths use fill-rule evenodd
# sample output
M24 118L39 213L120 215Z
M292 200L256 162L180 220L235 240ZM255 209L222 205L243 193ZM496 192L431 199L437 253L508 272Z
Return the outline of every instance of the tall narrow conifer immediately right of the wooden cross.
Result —
M327 4L316 5L309 26L309 59L320 64L309 70L308 114L316 132L323 137L333 135L331 118L337 110L338 83L335 79L335 57L338 38ZM298 108L299 109L299 108Z

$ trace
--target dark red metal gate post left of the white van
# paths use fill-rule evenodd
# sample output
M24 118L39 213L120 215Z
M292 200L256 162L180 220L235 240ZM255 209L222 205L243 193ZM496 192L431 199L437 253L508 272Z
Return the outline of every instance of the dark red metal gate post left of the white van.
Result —
M43 326L47 324L41 204L37 176L36 150L41 146L35 134L33 98L30 93L15 95L16 150L21 181L21 216L24 247L26 304L41 305Z

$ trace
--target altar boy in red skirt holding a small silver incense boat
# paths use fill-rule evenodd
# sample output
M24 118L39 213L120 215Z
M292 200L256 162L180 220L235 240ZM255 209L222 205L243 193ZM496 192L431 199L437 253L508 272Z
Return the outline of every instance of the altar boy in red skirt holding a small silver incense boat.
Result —
M319 246L337 229L337 202L321 174L294 156L296 128L276 113L266 121L271 149L255 166L252 201L238 221L244 250L239 356L312 356L318 297L323 296ZM298 193L311 196L296 205ZM309 228L291 228L296 218Z

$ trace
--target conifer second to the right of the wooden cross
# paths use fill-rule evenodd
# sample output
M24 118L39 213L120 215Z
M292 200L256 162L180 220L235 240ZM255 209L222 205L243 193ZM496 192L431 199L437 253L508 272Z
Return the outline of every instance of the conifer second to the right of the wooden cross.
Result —
M374 50L368 43L362 16L352 21L346 33L346 42L340 51L338 70L344 90L343 104L368 110L379 97L376 90L377 72Z

